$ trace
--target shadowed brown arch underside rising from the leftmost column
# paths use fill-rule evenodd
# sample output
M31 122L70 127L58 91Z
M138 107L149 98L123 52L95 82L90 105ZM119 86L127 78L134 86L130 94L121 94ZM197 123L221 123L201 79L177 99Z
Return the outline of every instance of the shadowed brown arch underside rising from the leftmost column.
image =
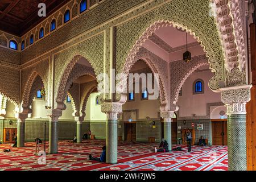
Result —
M23 91L22 96L22 107L23 113L31 113L30 106L32 105L32 100L36 92L44 86L44 81L42 76L36 71L33 71L28 77L26 86ZM45 96L47 100L47 89L45 89Z

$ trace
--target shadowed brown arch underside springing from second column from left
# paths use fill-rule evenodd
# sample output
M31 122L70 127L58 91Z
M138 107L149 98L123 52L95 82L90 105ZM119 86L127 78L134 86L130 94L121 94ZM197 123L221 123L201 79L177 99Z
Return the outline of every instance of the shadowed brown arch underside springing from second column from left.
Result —
M63 75L61 76L61 80L57 86L57 109L65 110L65 96L67 95L67 92L74 80L84 75L90 75L96 80L96 75L93 68L86 67L85 65L81 64L76 64L77 61L79 61L81 58L81 55L76 55L68 64L68 67L65 69Z

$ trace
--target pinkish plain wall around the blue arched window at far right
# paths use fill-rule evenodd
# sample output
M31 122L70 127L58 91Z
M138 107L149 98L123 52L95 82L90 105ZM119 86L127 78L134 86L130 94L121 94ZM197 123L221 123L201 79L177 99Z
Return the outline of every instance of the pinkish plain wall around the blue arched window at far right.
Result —
M221 102L221 94L214 93L209 89L208 82L212 78L213 73L208 71L194 72L187 79L182 88L182 96L179 97L177 105L179 105L180 117L192 117L207 115L207 104ZM193 94L193 82L197 79L204 81L204 94Z

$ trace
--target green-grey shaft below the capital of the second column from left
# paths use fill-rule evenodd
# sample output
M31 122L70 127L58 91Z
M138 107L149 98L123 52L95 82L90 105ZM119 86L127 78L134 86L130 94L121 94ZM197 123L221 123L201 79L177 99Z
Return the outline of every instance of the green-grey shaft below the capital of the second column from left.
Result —
M56 154L58 152L58 122L49 121L49 153Z

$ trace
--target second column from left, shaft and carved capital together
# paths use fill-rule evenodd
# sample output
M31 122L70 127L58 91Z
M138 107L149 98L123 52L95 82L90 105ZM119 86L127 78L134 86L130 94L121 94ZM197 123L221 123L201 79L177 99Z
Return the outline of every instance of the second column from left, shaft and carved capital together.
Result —
M57 154L58 152L58 123L61 116L61 110L48 110L49 116L49 154Z

